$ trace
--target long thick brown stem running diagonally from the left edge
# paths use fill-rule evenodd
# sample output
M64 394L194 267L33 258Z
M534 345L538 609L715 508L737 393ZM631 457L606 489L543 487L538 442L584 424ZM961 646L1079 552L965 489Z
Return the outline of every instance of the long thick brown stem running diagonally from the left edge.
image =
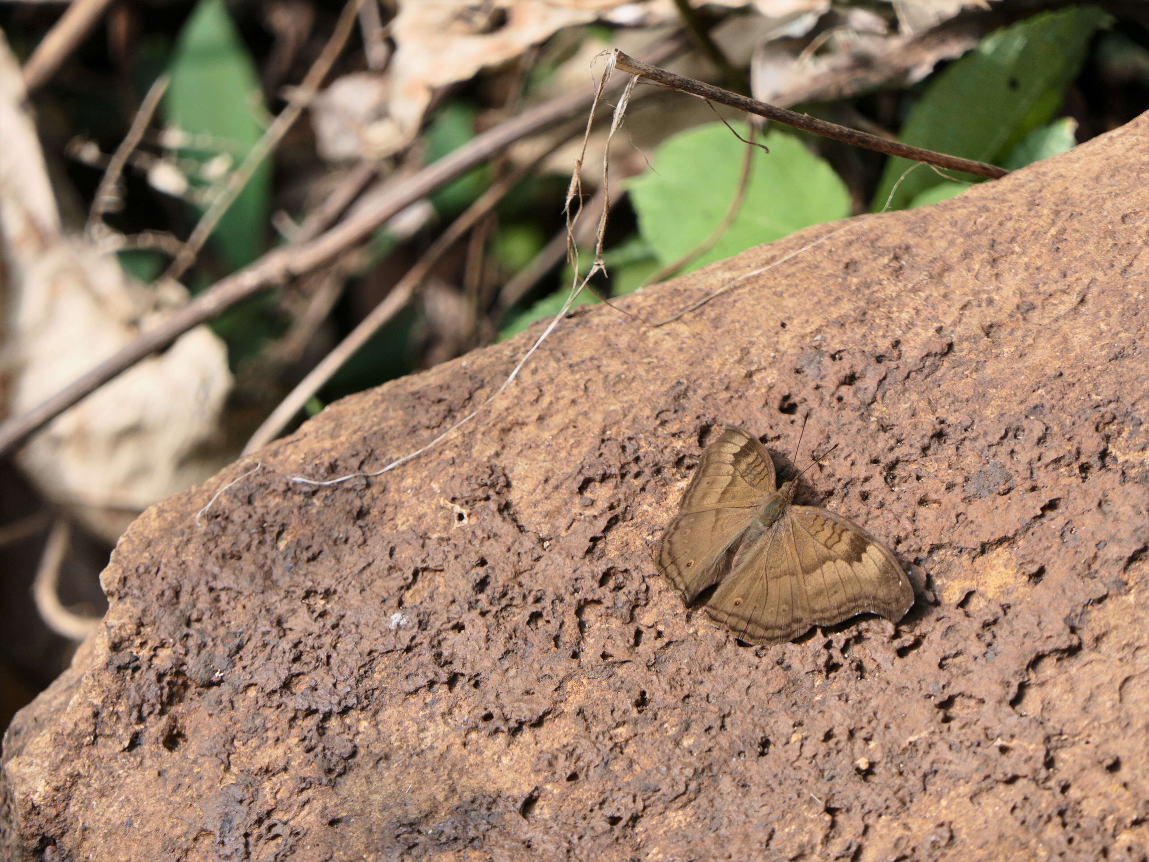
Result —
M683 47L677 36L660 44L651 56L655 62L673 55ZM608 85L608 91L617 85ZM99 365L48 397L31 410L0 424L0 455L22 444L28 437L61 413L86 398L100 386L118 377L137 362L162 349L185 332L210 321L237 302L268 287L311 271L337 254L367 239L380 225L435 188L480 164L515 141L545 131L556 122L586 110L595 101L596 90L570 93L545 102L506 123L496 125L429 164L418 174L396 183L391 193L372 207L356 213L310 243L277 248L246 269L234 272L198 294L155 328L124 345Z

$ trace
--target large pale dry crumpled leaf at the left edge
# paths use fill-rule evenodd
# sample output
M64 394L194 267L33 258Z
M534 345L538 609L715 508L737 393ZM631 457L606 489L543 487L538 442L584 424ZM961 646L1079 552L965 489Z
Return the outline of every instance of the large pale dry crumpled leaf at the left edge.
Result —
M65 233L28 110L20 64L0 36L0 410L37 406L186 301L171 284L133 285L115 257ZM147 506L202 480L231 390L226 348L192 330L64 413L16 456L53 503L114 541Z

